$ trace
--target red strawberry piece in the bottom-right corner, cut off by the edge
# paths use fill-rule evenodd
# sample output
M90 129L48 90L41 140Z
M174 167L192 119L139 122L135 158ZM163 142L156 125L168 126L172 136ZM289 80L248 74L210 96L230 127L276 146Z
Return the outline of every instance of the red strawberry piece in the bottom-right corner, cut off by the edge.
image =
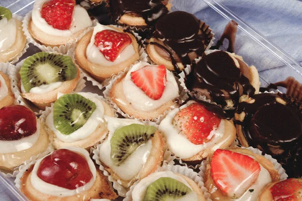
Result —
M274 201L301 201L302 179L289 178L275 183L270 191Z

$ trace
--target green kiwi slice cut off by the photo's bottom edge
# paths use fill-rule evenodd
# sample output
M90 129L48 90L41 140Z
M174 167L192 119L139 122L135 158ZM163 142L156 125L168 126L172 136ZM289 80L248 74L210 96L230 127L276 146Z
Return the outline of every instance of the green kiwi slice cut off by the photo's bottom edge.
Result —
M147 187L143 201L174 200L191 191L188 186L176 179L161 177Z

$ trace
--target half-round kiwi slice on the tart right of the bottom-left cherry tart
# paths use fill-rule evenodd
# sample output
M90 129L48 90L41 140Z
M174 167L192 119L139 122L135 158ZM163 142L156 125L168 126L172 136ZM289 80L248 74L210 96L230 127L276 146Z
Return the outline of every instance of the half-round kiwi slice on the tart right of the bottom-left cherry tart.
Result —
M156 131L154 126L141 124L130 124L117 129L110 140L113 164L122 164L140 145L152 138Z

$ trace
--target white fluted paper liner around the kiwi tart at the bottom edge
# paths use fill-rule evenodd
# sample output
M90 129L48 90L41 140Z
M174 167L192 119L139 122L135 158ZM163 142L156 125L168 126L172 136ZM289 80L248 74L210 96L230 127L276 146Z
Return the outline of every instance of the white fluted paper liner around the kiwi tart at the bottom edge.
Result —
M210 194L208 193L207 189L204 187L202 178L198 175L198 173L194 172L192 169L180 165L164 164L157 171L172 171L174 173L182 174L192 179L201 189L205 200L211 201L211 199L209 198ZM132 201L132 191L134 187L135 184L130 187L130 190L126 193L126 198L123 199L123 201Z

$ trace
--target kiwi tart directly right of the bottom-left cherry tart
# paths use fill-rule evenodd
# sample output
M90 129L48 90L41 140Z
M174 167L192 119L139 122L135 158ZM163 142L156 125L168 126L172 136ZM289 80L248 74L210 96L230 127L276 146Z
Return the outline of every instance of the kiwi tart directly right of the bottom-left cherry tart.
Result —
M164 141L154 126L137 120L106 117L108 138L93 157L125 188L153 173L163 161Z

